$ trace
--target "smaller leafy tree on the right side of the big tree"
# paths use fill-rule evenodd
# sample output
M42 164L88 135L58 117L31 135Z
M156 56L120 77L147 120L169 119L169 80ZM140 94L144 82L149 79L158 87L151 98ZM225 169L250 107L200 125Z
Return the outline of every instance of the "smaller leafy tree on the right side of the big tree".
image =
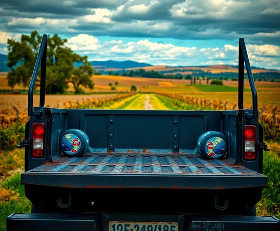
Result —
M75 94L81 93L80 86L88 87L90 90L94 88L94 83L91 80L93 68L90 62L87 61L87 56L83 57L83 66L74 69L70 80L67 83L72 83Z

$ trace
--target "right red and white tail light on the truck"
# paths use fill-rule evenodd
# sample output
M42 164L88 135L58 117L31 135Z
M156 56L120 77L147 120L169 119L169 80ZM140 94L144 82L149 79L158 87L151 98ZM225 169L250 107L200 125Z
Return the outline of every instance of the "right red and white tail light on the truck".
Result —
M244 159L254 161L257 158L257 127L246 125L244 127Z

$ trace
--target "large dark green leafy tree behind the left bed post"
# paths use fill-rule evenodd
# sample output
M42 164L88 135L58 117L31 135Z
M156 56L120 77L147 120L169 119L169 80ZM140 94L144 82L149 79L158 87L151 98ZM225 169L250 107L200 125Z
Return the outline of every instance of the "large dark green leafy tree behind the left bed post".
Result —
M29 85L41 40L42 36L36 30L32 31L30 35L22 35L20 42L8 39L7 66L11 71L8 73L7 79L10 87L13 88L17 84L22 84L24 87ZM66 42L66 39L60 38L57 34L48 36L46 93L65 92L68 88L68 80L76 72L74 62L82 63L82 65L86 65L85 68L89 69L87 57L74 53L65 46ZM78 69L81 69L80 66ZM40 70L38 75L37 87L40 86ZM86 86L92 86L90 76L87 75L87 77L87 82L83 80L81 84L86 82ZM76 80L76 82L79 81Z

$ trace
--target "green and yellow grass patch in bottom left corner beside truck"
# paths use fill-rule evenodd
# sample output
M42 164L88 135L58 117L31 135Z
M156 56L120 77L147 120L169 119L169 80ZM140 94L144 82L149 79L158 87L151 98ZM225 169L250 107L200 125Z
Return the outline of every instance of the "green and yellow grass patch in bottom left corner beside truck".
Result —
M6 230L6 218L13 212L30 213L31 203L25 197L21 175L7 178L0 187L0 231Z

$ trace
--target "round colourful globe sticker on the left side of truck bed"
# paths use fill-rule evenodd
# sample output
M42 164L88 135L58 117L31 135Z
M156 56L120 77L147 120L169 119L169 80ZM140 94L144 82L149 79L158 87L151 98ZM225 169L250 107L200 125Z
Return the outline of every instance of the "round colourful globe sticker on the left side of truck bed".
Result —
M75 134L66 134L60 141L62 150L68 155L76 154L81 147L81 141Z

